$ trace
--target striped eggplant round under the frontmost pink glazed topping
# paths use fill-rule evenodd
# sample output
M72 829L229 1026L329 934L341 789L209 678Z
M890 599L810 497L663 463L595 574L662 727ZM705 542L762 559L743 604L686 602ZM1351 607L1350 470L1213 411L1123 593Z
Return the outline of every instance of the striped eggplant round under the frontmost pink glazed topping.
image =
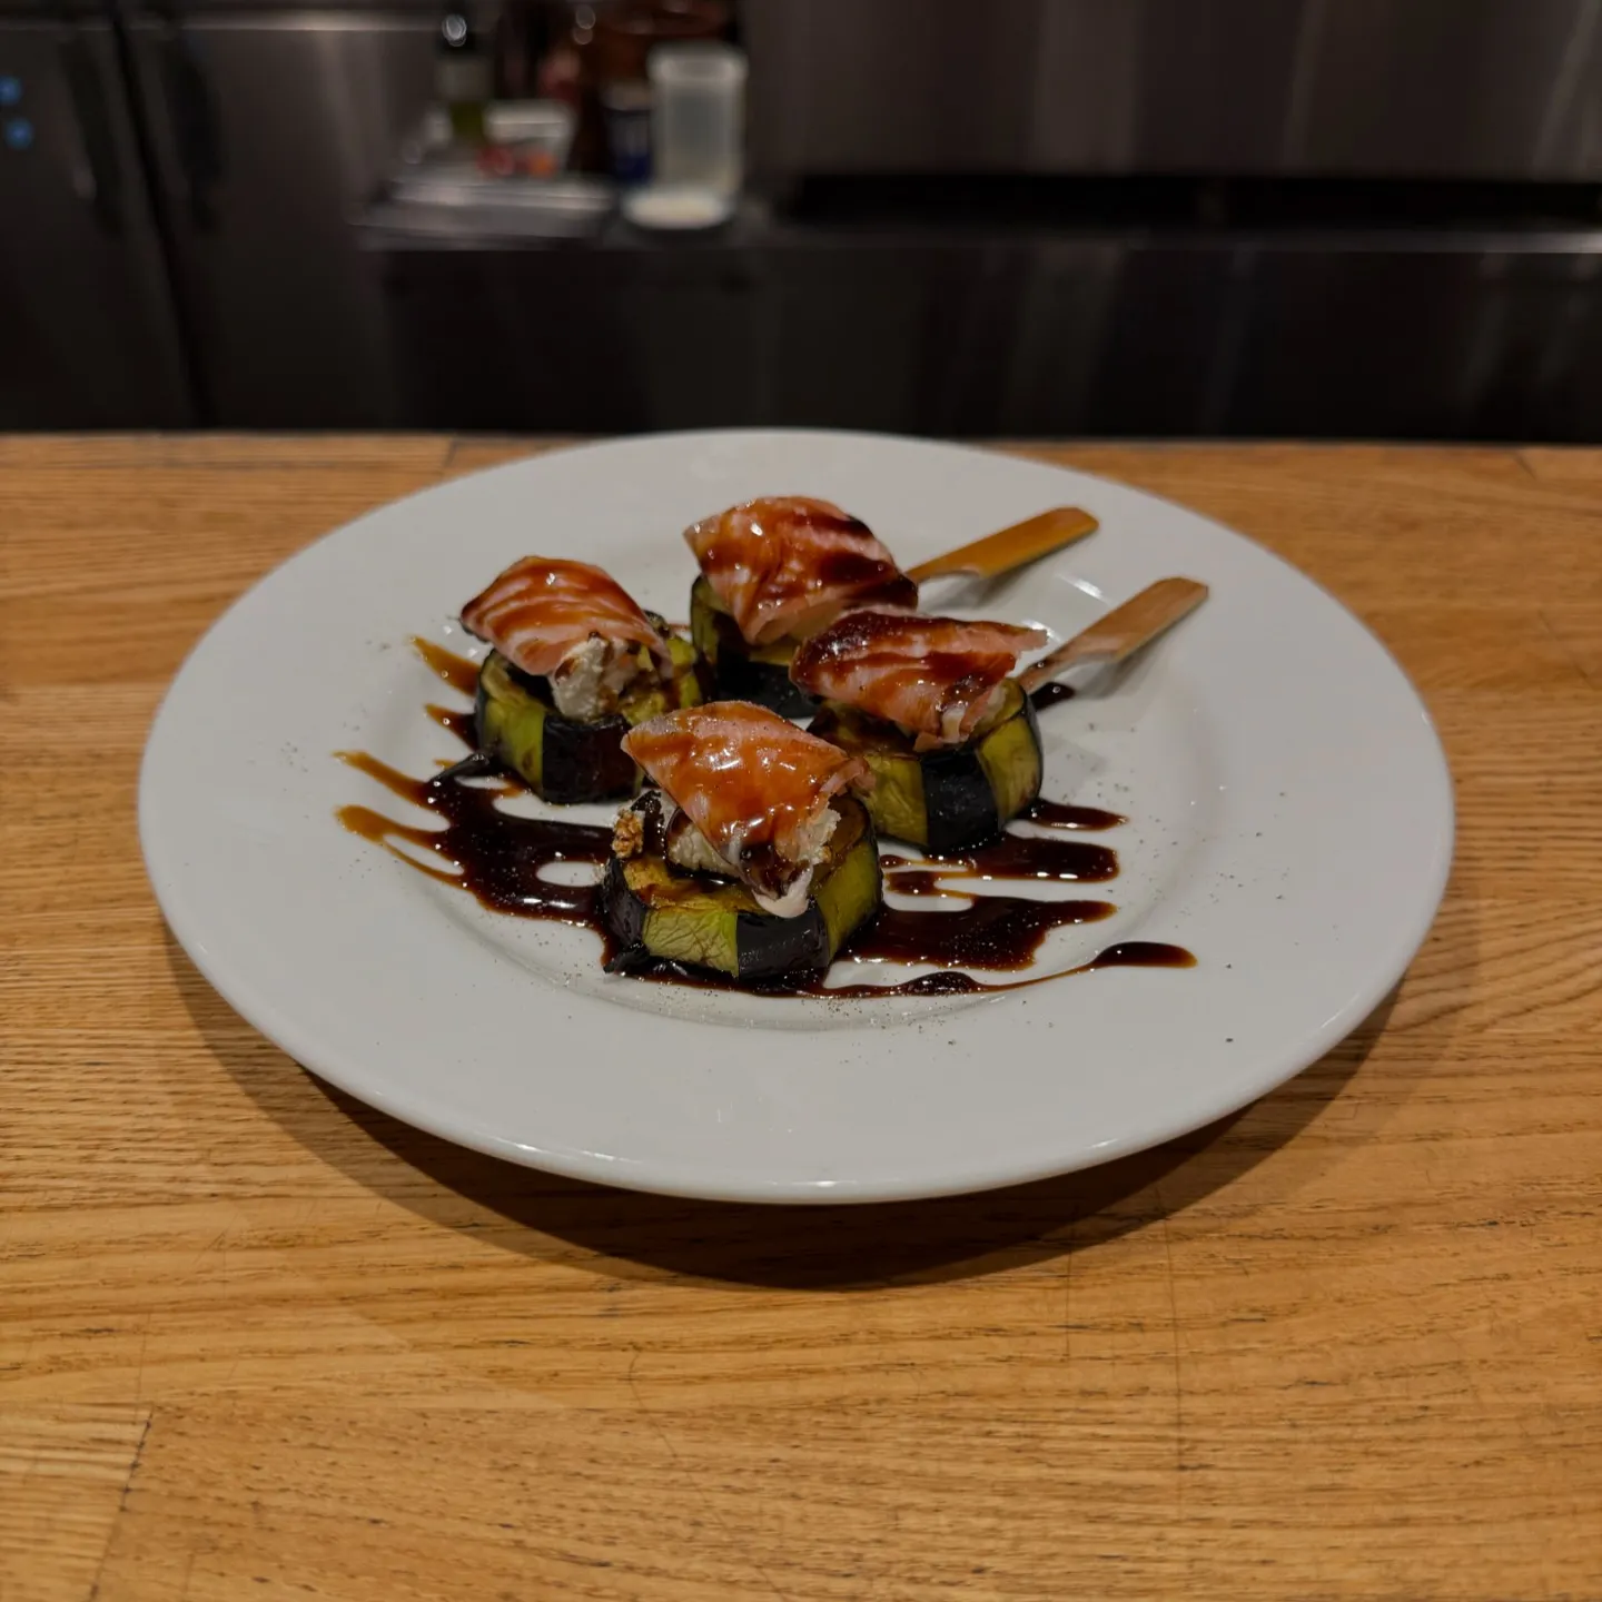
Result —
M860 801L838 799L828 857L812 878L806 912L779 918L734 879L684 873L660 839L626 860L612 857L601 881L601 913L614 940L614 972L652 963L710 968L731 979L822 972L884 899L873 823Z

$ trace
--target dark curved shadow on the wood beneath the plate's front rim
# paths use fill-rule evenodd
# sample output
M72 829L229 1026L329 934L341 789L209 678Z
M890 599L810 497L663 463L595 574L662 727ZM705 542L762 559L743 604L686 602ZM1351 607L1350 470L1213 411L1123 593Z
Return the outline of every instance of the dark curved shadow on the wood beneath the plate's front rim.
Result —
M747 1206L564 1179L413 1129L300 1069L211 990L170 936L167 955L195 1027L245 1094L308 1150L388 1200L530 1258L777 1290L972 1278L1182 1213L1314 1123L1362 1069L1394 1004L1392 993L1334 1051L1250 1107L1097 1168L931 1202Z

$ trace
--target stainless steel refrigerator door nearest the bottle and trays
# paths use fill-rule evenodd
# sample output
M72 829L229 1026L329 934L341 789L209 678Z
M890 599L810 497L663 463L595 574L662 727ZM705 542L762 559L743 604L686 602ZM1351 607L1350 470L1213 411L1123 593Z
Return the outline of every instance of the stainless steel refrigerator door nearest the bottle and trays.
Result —
M433 0L119 14L208 421L405 423L384 264L349 215L428 107Z

